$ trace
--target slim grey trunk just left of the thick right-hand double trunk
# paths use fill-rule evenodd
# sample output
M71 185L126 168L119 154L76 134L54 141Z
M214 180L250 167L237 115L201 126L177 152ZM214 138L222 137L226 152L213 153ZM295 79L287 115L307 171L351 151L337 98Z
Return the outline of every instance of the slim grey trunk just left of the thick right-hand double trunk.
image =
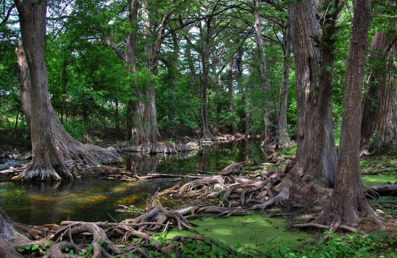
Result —
M278 98L278 142L282 145L289 142L287 134L287 100L289 65L292 61L291 49L291 32L290 28L287 27L284 32L284 59L282 62L280 96Z

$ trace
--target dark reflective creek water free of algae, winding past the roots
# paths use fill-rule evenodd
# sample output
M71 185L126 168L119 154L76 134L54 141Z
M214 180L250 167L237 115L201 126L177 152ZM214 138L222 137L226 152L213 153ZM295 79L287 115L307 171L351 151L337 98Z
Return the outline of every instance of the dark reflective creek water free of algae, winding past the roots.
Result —
M170 174L199 173L200 170L216 172L232 161L251 158L263 161L264 154L259 141L239 140L204 146L199 152L179 155L132 153L124 158L126 169L131 169L133 161L138 175L142 176L153 170ZM127 215L116 211L120 208L118 205L143 208L148 195L172 187L177 180L115 182L82 177L53 185L1 182L0 206L15 222L29 225L60 223L66 219L95 222L113 221L114 218L121 221Z

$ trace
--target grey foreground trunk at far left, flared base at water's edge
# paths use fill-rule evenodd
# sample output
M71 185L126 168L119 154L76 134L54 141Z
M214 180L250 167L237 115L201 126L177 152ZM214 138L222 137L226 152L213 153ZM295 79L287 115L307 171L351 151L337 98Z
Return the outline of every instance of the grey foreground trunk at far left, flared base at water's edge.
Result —
M30 100L33 158L29 167L15 179L61 180L72 179L64 160L57 154L51 123L52 108L48 98L47 68L44 62L46 31L46 2L15 0L18 9L23 49L30 72Z

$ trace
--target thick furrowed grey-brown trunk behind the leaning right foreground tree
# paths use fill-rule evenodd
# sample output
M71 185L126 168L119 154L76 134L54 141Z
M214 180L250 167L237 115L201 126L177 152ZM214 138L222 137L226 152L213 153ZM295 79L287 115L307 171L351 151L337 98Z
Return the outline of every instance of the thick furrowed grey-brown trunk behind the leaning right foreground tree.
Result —
M327 59L329 55L321 59L312 38L320 35L314 6L314 0L294 1L288 6L297 85L298 148L293 170L296 176L308 173L312 180L332 185L337 158L332 130L332 76L319 65L320 60L331 60Z

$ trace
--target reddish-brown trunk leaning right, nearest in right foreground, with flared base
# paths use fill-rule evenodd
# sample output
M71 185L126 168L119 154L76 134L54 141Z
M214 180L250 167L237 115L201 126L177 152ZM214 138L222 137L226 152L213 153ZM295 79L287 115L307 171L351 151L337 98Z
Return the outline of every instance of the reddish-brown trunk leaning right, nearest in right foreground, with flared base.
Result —
M340 224L355 227L359 218L363 216L369 216L381 225L365 199L360 173L361 94L370 17L371 0L355 0L343 93L335 188L320 217L331 224L331 230Z

